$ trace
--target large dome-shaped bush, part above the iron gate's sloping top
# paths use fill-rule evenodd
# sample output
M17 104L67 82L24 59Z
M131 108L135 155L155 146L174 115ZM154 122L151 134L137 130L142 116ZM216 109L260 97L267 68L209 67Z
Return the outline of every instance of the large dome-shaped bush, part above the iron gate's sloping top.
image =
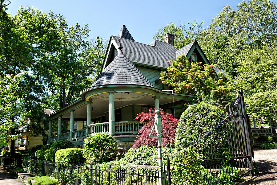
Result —
M175 148L190 147L199 138L199 134L207 133L223 119L221 109L204 102L189 106L180 117L175 134Z

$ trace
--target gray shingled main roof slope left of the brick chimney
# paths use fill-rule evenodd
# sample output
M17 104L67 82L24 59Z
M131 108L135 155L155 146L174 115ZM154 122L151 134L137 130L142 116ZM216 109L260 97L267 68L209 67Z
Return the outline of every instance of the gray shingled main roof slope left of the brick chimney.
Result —
M119 37L111 36L119 46ZM124 39L123 39L124 40ZM159 68L167 68L169 60L175 60L175 51L178 49L171 44L155 40L151 45L125 39L121 44L124 55L136 64L145 64Z

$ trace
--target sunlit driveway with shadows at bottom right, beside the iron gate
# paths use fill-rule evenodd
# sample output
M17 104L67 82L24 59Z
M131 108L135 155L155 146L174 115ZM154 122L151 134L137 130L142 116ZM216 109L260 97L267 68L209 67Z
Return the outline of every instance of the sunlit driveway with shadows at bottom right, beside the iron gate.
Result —
M254 150L259 174L241 185L277 185L277 150Z

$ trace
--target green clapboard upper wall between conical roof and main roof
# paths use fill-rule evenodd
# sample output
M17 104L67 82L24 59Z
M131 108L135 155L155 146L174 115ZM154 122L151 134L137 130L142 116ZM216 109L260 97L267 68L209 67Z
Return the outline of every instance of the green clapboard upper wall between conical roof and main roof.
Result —
M149 68L144 68L141 66L136 66L139 71L147 78L147 80L150 81L152 85L154 85L155 88L163 89L163 84L161 81L159 83L155 84L156 80L159 80L160 78L160 70L155 70L155 69L149 69Z

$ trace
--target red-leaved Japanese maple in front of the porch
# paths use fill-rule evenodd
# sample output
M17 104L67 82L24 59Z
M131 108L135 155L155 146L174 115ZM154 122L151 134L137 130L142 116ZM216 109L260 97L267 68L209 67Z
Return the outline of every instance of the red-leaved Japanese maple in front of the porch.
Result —
M162 117L162 132L161 132L161 141L162 145L166 146L170 143L174 144L175 142L175 133L177 129L177 125L179 120L174 118L172 114L166 113L163 109L160 110L160 115ZM139 148L141 146L157 146L158 140L157 138L149 138L149 134L154 124L154 116L155 109L149 109L148 113L140 113L134 120L139 120L142 122L147 122L143 127L139 130L137 134L137 140L135 141L133 147ZM155 129L152 132L152 135L156 135Z

